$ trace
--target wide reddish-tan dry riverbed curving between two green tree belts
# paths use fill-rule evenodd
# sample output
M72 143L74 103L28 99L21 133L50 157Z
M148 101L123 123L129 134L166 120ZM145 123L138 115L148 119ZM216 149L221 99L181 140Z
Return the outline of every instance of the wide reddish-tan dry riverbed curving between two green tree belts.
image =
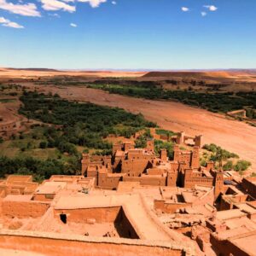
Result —
M82 87L63 89L44 86L40 90L56 92L69 100L93 102L125 108L131 113L143 113L147 119L157 122L164 129L185 131L191 136L202 134L204 143L216 143L239 154L242 159L250 160L253 168L256 168L256 128L236 120L226 119L223 115L192 108L178 102L150 101Z

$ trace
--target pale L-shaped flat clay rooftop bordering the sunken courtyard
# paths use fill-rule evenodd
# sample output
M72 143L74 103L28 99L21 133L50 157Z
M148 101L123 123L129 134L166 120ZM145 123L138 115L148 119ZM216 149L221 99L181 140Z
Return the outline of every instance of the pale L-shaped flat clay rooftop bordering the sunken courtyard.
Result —
M154 241L177 239L177 237L172 237L174 236L171 234L172 230L166 231L164 226L160 228L160 221L152 218L152 212L138 194L63 196L55 205L56 210L99 207L123 207L126 217L141 239ZM178 236L176 232L175 236Z

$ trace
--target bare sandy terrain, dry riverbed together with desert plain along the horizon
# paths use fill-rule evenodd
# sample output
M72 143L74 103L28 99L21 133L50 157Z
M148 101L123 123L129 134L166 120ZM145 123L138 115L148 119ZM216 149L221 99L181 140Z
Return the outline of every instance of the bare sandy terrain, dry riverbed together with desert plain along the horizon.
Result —
M233 82L230 90L256 90L256 71L232 71L232 72L180 72L180 73L136 73L136 72L52 72L39 70L9 70L3 69L0 73L1 79L19 80L22 86L26 86L29 90L38 90L39 92L52 94L59 94L61 97L71 101L92 102L95 104L124 108L131 113L143 113L145 118L156 122L160 127L171 131L185 131L191 136L202 134L205 143L216 143L223 148L234 151L241 155L242 158L252 162L256 166L256 136L255 127L245 124L239 120L231 119L219 113L211 113L201 108L191 108L179 102L166 101L151 101L147 99L132 98L127 96L120 96L116 94L109 94L103 90L95 90L81 85L61 86L44 84L39 86L30 81L30 79L37 80L55 78L56 73L61 78L79 77L79 81L92 81L100 78L106 78L106 74L110 78L125 77L133 78L141 81L143 78L153 80L160 79L206 79L207 82L212 83L212 79L224 81L222 79L231 79ZM60 73L60 74L59 74ZM6 77L5 77L6 76ZM56 78L58 78L58 76ZM134 78L138 76L137 78ZM22 79L22 80L20 80ZM209 81L210 79L210 81ZM247 81L248 84L241 85ZM231 85L230 85L231 86ZM225 90L229 90L225 88Z

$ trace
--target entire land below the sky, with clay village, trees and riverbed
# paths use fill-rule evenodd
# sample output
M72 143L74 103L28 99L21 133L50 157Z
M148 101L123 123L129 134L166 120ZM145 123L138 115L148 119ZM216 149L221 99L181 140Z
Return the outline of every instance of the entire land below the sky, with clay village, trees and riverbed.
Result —
M0 252L254 255L253 71L4 68L0 84Z

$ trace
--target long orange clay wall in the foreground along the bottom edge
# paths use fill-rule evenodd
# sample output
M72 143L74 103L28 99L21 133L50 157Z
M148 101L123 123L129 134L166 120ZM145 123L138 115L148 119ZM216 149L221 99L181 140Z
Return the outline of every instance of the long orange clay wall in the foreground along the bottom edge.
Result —
M49 256L76 255L76 256L186 256L182 246L175 243L150 241L134 241L111 238L92 238L84 236L55 235L44 236L33 232L5 231L0 233L0 247L15 250L25 250L34 253L44 253Z

